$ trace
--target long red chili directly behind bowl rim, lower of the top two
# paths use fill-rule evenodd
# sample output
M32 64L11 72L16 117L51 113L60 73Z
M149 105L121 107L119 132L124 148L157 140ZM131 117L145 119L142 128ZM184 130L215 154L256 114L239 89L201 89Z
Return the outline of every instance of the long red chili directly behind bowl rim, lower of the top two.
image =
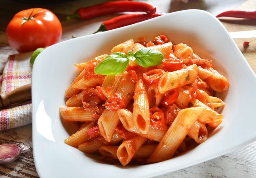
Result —
M158 17L164 14L165 13L120 15L118 17L114 17L113 19L106 20L105 22L103 22L102 25L100 25L99 29L95 33L99 31L108 31L115 28L124 27L134 23L142 22L144 20L152 19L154 17Z

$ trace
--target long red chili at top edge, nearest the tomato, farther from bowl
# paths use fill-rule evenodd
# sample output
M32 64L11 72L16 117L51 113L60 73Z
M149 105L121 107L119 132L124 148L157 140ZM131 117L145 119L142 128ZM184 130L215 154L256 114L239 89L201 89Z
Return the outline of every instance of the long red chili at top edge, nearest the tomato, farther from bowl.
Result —
M148 14L154 14L156 12L156 8L151 6L150 4L137 1L110 1L95 6L79 8L73 14L67 16L66 20L86 20L118 12L146 12Z

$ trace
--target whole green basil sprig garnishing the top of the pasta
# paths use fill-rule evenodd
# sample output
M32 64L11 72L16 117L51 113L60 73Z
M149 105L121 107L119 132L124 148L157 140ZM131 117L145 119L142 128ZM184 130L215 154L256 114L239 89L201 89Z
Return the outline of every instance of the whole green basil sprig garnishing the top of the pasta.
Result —
M125 71L130 60L136 60L138 65L148 68L150 66L160 65L163 59L164 56L160 51L150 48L140 48L135 53L129 50L127 55L125 53L116 52L108 55L100 62L94 69L94 73L116 75Z

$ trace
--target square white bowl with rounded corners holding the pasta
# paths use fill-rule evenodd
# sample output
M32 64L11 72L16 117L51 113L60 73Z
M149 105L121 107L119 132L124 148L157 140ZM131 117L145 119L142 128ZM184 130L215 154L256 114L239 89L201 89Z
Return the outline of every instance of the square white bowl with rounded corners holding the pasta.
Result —
M209 139L184 155L155 164L121 167L87 157L64 144L69 136L60 119L64 91L77 75L74 63L109 54L125 40L165 34L191 46L230 82L219 94L226 102L221 125ZM35 166L41 178L148 178L224 155L256 140L256 76L224 26L206 11L185 10L104 33L52 45L36 59L32 74L32 131Z

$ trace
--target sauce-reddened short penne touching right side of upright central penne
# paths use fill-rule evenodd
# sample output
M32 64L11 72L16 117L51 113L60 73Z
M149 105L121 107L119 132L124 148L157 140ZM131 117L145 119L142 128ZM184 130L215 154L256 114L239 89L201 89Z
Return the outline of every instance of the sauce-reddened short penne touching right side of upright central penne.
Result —
M163 97L163 94L161 94L158 90L158 84L153 83L149 85L147 93L148 93L149 106L158 107Z

